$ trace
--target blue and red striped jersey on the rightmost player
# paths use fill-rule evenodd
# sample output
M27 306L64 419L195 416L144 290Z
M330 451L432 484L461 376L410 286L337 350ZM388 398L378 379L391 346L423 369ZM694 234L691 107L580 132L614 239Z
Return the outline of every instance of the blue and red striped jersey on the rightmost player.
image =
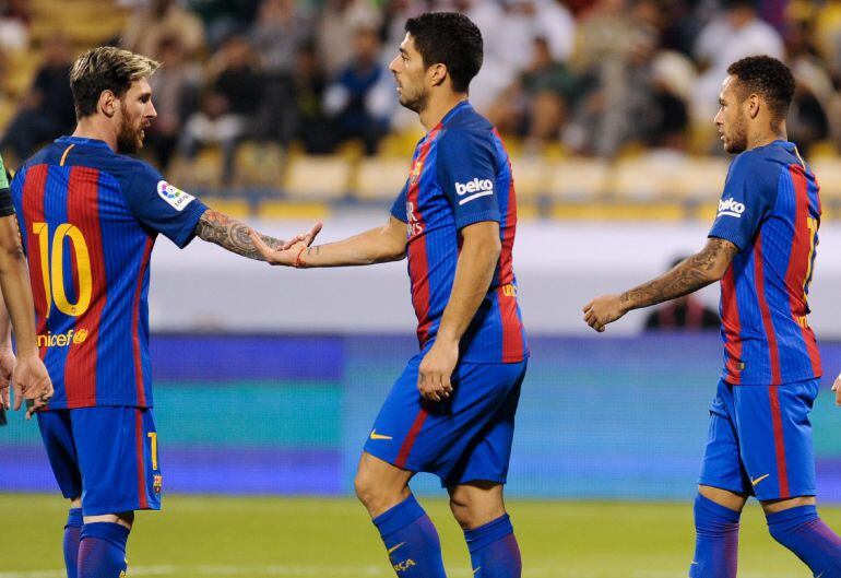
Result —
M721 280L724 370L734 385L820 377L808 292L820 225L815 175L774 141L731 164L710 237L739 249Z

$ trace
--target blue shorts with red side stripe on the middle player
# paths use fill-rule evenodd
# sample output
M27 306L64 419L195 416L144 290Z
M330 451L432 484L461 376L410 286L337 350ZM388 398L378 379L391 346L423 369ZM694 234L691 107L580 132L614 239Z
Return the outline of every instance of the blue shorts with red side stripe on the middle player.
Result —
M450 398L427 402L417 390L422 361L423 353L413 357L391 388L364 450L404 470L434 473L445 487L504 484L526 362L462 362Z

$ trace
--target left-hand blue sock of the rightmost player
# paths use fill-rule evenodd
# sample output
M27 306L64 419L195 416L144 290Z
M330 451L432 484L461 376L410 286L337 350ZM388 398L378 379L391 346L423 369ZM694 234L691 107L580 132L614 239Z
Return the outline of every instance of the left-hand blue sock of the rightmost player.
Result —
M695 498L695 558L689 578L735 578L742 515L698 494Z

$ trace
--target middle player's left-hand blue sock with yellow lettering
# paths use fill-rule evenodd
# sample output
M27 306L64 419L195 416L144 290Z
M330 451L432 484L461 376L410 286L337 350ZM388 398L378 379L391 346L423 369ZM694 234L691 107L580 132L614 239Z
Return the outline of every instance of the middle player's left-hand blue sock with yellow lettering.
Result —
M415 496L410 495L377 516L374 523L380 531L391 565L400 578L447 577L438 532Z

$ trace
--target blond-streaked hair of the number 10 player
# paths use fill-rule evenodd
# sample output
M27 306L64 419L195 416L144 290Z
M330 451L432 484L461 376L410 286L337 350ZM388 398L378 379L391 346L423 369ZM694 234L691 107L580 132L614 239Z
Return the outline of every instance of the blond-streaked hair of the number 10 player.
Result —
M161 62L114 46L99 46L86 51L70 69L76 118L95 114L104 91L121 98L132 82L151 76L158 68Z

